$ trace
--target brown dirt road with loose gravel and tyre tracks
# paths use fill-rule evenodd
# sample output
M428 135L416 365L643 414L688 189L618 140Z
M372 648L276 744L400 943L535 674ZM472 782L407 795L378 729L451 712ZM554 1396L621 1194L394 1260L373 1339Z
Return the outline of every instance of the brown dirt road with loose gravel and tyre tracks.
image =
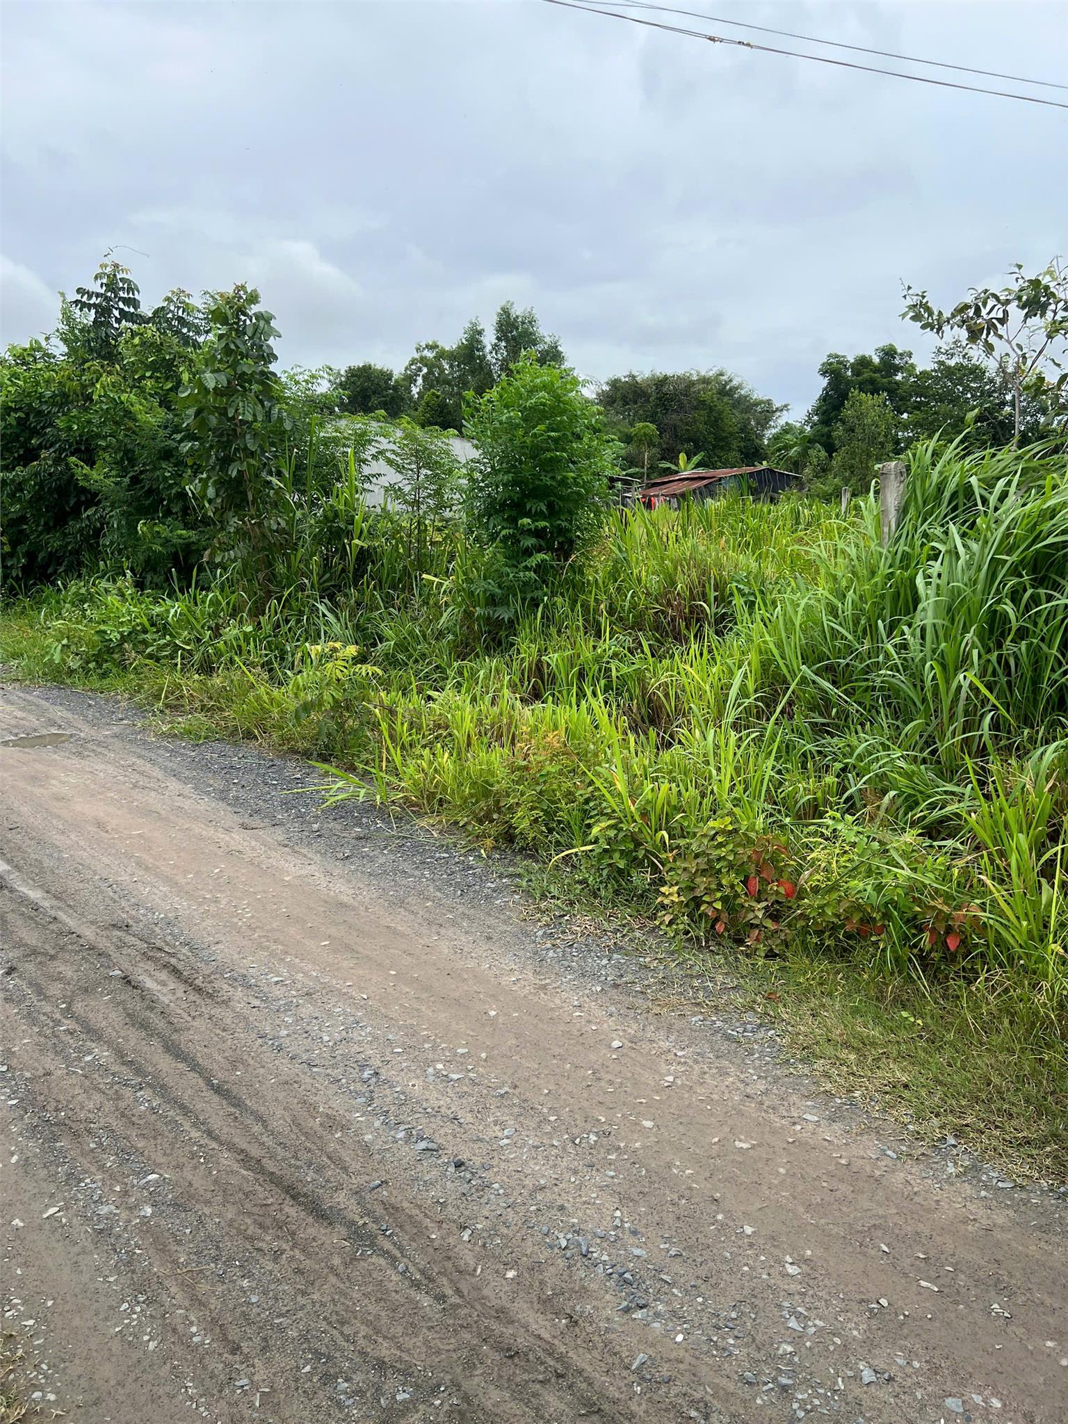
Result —
M296 762L0 688L0 1272L41 1417L1068 1418L1065 1202L655 1012ZM50 745L48 745L50 743Z

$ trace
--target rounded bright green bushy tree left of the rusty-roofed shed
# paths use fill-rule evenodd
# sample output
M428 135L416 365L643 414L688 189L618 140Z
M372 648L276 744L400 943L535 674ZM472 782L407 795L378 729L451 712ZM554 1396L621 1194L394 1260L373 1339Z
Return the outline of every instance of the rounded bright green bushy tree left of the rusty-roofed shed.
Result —
M498 611L514 614L597 528L615 446L575 373L533 350L468 402L466 431L470 527L497 568Z

